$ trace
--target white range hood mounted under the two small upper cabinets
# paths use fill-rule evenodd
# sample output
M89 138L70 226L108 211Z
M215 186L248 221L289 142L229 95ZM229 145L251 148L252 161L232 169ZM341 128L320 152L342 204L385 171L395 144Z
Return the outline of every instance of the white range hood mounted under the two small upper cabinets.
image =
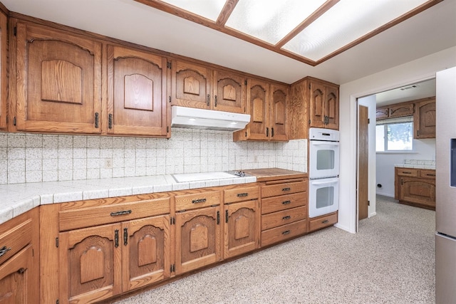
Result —
M196 108L171 107L171 127L190 129L236 131L250 122L250 115Z

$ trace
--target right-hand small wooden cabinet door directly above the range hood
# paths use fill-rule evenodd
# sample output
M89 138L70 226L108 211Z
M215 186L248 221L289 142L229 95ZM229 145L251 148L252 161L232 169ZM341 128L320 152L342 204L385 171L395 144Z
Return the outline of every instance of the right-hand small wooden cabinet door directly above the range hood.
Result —
M214 70L213 109L226 112L245 112L245 82L242 75Z

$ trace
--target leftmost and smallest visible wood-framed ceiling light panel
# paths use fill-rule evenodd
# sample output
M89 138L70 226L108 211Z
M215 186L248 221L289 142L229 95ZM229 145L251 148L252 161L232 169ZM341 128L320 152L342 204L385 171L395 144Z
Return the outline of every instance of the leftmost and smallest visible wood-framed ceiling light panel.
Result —
M226 0L160 0L206 19L217 21Z

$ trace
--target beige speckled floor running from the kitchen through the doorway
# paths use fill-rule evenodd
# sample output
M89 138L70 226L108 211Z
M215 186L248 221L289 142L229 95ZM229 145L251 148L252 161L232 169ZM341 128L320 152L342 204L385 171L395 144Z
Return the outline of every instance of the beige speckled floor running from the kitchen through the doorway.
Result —
M323 229L115 303L435 303L435 211L377 199L358 234Z

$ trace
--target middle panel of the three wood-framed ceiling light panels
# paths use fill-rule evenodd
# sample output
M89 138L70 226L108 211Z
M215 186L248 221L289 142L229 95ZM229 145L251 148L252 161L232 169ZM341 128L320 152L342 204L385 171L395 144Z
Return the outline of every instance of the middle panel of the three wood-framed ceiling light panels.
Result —
M225 26L276 44L326 0L239 0Z

